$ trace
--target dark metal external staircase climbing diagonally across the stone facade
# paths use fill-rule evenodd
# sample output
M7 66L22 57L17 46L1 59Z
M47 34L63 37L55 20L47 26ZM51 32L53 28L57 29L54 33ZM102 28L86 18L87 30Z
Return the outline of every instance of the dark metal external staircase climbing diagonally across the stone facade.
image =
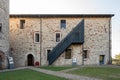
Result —
M49 65L51 65L73 43L84 43L84 20L73 28L73 30L48 54Z

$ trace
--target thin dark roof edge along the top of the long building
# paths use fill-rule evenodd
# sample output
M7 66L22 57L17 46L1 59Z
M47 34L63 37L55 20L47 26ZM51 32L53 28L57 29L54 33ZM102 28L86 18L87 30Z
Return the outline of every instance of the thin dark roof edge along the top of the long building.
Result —
M10 14L10 18L112 17L114 14Z

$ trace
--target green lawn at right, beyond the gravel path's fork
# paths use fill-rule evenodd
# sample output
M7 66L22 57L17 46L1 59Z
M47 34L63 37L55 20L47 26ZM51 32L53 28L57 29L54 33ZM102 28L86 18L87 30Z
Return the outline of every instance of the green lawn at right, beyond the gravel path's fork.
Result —
M82 67L68 73L95 77L103 80L120 80L120 68Z

